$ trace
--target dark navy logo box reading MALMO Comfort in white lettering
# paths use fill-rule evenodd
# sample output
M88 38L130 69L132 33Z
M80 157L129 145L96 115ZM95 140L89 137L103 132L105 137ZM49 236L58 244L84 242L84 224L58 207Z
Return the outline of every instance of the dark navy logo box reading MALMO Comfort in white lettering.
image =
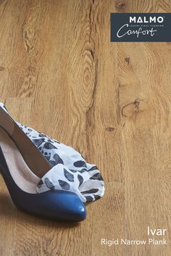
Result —
M111 42L171 41L171 13L111 13L110 23Z

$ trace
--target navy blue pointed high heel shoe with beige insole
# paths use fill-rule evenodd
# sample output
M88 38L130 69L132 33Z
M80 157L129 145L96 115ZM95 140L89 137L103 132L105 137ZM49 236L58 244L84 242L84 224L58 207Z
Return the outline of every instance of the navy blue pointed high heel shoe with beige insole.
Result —
M72 191L36 188L51 166L7 112L0 107L0 168L14 205L33 215L57 220L86 219L83 202Z

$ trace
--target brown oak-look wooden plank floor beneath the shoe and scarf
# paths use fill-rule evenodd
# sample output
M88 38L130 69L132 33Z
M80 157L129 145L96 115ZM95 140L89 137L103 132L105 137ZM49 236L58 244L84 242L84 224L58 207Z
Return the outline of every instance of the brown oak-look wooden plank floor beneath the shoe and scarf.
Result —
M171 255L171 43L110 43L110 12L171 5L0 0L0 100L96 163L106 185L69 224L17 210L0 177L1 256ZM147 226L167 228L167 245L101 245L148 239Z

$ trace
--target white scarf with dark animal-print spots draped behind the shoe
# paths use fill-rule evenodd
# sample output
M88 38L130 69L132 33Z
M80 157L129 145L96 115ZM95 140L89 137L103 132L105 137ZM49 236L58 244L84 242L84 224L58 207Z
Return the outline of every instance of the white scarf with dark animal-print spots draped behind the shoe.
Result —
M4 104L0 103L0 106L7 111ZM38 193L49 189L74 191L83 202L91 202L104 195L104 180L96 165L86 162L71 146L66 146L44 133L15 122L52 167L38 183Z

